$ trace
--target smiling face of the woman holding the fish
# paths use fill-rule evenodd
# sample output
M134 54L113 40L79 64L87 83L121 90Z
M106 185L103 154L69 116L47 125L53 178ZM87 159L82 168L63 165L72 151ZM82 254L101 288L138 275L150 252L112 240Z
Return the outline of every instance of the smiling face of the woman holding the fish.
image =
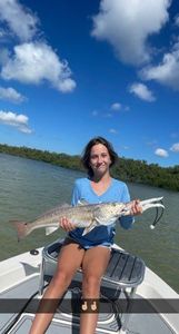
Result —
M95 175L103 175L109 171L111 158L108 148L102 144L96 144L90 151L90 167Z

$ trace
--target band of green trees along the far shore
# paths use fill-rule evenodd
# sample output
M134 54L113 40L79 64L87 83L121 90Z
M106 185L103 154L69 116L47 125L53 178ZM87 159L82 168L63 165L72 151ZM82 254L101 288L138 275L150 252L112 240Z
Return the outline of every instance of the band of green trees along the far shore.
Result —
M80 156L69 156L63 153L57 154L24 146L16 147L9 145L0 145L0 153L41 160L64 168L83 170ZM123 181L179 191L179 165L163 168L157 164L148 165L145 160L119 158L112 167L112 176Z

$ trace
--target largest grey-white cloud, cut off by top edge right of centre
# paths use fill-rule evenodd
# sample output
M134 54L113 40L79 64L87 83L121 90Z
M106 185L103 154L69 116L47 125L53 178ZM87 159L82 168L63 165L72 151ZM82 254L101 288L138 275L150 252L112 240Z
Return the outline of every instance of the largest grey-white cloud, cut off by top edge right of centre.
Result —
M93 17L91 35L107 40L123 62L139 65L150 60L147 39L168 21L171 0L101 0Z

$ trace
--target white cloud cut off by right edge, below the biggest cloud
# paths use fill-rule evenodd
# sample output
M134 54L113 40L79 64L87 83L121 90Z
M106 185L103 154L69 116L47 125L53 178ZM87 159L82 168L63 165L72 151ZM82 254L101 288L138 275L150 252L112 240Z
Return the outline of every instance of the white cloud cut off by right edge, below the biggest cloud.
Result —
M145 80L156 80L179 90L179 42L163 56L161 63L146 67L140 73Z

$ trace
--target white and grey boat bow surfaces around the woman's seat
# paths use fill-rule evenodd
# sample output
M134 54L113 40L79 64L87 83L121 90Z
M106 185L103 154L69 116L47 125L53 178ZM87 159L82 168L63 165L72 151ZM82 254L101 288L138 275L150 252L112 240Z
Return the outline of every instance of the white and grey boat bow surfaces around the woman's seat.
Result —
M0 263L1 334L28 334L39 302L40 262L41 249L39 255L26 253ZM47 334L79 333L79 313L76 312L79 292L79 282L73 281L63 301L59 305ZM170 298L179 297L163 281L147 268L145 281L139 286L135 297L140 299L159 298L161 295L163 297L163 294ZM33 296L32 299L31 296ZM123 297L123 295L120 295L120 298ZM3 301L4 303L2 303ZM74 308L72 308L72 311L69 301L73 302ZM120 299L118 299L116 304L112 302L108 303L108 312L99 314L96 333L119 333L123 317L123 315L118 312L119 305ZM132 313L128 323L127 333L178 334L179 316L177 313Z

